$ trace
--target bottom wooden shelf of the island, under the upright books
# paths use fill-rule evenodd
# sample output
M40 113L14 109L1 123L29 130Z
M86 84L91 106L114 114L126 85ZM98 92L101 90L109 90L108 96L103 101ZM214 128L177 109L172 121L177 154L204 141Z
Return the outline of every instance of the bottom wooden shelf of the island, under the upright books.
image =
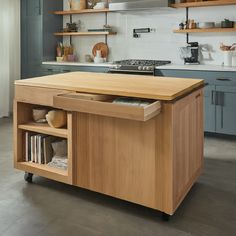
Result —
M38 176L43 176L48 179L54 179L67 184L70 183L67 170L53 168L44 164L23 161L15 163L15 168Z

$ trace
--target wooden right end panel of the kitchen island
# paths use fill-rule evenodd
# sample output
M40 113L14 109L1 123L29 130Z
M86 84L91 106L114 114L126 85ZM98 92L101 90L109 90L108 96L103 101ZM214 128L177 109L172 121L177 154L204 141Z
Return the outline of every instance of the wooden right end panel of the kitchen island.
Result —
M176 209L202 170L203 91L196 91L178 101L173 114L173 197Z

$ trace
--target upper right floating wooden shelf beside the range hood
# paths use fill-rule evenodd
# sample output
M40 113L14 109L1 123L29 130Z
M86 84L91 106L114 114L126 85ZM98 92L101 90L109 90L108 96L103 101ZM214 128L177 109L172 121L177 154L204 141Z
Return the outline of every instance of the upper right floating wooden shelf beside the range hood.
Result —
M218 1L176 3L176 4L171 4L171 7L174 8L210 7L210 6L235 5L235 4L236 0L218 0Z

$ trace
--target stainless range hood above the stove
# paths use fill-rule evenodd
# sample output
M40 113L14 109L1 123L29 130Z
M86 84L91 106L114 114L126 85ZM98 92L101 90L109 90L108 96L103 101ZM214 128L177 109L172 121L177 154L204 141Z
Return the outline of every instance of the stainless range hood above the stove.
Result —
M136 11L153 8L169 7L170 0L110 0L109 9L112 11Z

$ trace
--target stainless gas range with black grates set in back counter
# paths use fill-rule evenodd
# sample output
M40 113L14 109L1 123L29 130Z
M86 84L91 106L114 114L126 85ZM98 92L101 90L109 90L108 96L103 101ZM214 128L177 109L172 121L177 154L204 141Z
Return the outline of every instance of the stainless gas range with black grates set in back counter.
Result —
M154 75L155 67L170 64L160 60L122 60L114 62L110 73Z

